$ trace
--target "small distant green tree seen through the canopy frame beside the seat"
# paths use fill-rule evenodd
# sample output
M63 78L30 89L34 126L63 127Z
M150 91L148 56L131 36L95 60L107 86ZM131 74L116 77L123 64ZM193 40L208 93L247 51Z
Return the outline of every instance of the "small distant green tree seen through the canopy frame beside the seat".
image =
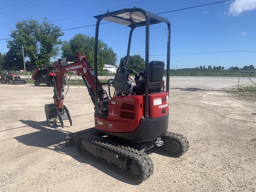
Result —
M124 65L126 56L120 59L120 64ZM140 55L129 56L128 68L133 68L137 73L144 71L145 60Z

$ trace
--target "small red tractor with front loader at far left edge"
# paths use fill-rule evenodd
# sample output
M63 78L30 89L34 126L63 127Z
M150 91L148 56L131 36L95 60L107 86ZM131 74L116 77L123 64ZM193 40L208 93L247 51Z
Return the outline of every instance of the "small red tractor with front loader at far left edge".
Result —
M2 73L2 67L6 67L7 71ZM26 84L27 82L25 80L21 80L20 76L16 74L10 73L9 66L3 65L0 69L0 75L1 75L1 84L13 84L13 85L18 85L18 84Z

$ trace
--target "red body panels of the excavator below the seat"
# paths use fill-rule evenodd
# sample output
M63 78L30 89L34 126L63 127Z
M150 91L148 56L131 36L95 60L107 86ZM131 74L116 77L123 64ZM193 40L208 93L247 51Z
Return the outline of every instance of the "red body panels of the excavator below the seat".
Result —
M169 113L167 92L148 95L150 118L165 116ZM95 128L106 132L132 132L145 115L145 95L126 95L110 100L108 118L94 116Z

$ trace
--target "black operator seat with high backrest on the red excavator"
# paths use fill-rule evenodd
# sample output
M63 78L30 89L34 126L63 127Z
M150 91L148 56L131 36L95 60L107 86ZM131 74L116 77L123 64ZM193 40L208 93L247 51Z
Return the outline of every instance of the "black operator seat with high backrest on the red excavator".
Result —
M145 71L142 78L145 79ZM161 92L162 79L164 76L164 62L163 61L150 61L149 63L149 78L148 78L148 94ZM133 92L137 95L145 94L145 83L133 86Z

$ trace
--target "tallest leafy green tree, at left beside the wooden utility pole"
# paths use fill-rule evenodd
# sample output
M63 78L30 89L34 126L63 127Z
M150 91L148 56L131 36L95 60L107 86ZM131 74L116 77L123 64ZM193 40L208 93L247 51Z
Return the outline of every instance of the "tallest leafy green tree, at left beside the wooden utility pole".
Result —
M16 30L11 30L12 40L7 40L7 47L12 52L22 55L22 45L25 57L29 57L32 63L47 65L50 59L59 54L60 36L64 33L60 27L46 21L39 24L38 20L23 20L16 23Z

